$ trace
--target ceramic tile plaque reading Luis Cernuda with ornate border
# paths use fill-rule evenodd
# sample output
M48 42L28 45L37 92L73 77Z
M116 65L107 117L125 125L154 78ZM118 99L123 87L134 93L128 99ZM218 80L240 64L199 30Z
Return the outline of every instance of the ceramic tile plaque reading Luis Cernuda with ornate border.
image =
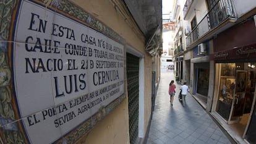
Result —
M2 4L2 142L75 142L124 99L124 45L69 1Z

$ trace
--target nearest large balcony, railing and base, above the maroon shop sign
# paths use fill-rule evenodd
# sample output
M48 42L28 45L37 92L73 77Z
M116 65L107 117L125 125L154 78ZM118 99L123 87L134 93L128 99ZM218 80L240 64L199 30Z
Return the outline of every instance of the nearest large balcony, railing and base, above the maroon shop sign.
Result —
M203 17L198 25L186 38L187 47L195 46L198 41L206 40L211 36L226 30L234 25L236 15L231 0L220 0L216 2L210 11Z

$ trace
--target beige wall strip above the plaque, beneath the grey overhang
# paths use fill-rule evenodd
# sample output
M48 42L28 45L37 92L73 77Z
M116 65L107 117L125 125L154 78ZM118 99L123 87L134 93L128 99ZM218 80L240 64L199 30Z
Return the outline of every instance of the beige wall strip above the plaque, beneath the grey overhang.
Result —
M145 53L142 33L135 35L133 28L126 23L122 15L114 8L111 1L76 0L73 2L122 36L127 44L133 46L141 53Z

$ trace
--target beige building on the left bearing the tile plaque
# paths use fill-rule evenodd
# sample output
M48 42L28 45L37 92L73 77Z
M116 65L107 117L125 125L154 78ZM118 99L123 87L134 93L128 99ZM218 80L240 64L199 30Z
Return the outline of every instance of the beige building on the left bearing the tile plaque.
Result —
M0 3L1 143L143 142L160 80L161 1Z

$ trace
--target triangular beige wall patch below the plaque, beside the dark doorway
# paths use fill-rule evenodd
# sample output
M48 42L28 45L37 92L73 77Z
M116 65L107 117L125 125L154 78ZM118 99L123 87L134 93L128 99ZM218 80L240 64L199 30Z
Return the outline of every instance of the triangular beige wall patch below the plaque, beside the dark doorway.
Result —
M78 143L129 143L127 98Z

